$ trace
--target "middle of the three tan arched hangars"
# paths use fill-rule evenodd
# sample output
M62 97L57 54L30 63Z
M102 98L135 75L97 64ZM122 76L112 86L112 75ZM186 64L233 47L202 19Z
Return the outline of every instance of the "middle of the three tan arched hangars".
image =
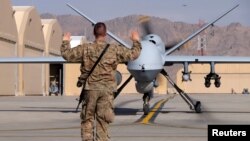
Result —
M18 57L43 56L45 41L35 7L14 6L13 10L18 31ZM18 64L17 90L18 95L41 95L44 92L41 64Z

